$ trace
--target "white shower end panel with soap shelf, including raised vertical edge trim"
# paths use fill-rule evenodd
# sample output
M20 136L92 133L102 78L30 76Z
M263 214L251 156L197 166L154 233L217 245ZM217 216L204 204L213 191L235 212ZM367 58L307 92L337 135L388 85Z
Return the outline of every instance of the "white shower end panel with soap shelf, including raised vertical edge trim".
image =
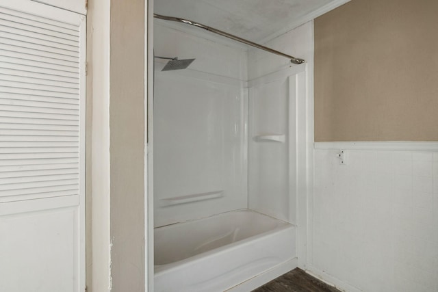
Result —
M248 206L296 223L305 65L249 83Z

